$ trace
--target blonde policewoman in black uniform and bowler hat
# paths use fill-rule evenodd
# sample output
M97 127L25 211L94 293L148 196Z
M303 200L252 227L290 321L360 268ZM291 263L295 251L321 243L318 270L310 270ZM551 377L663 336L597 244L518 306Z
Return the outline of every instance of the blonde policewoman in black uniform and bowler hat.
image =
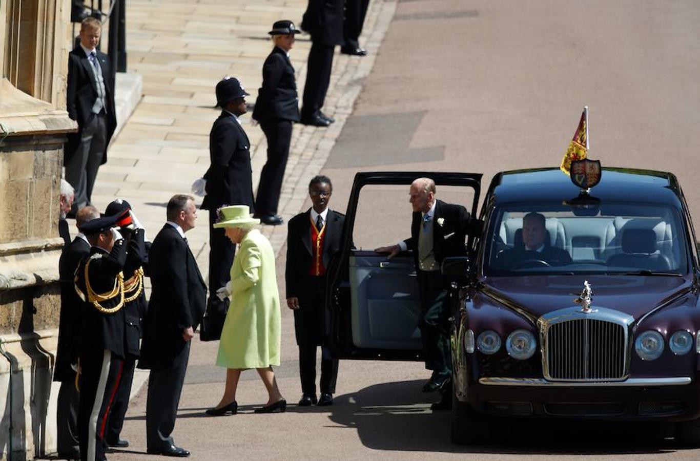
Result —
M255 218L267 225L282 224L277 204L292 141L292 122L299 121L297 82L289 50L294 45L295 34L300 32L291 21L272 24L268 34L272 35L274 48L262 66L262 87L253 110L253 119L260 122L267 138L267 162L260 173Z

